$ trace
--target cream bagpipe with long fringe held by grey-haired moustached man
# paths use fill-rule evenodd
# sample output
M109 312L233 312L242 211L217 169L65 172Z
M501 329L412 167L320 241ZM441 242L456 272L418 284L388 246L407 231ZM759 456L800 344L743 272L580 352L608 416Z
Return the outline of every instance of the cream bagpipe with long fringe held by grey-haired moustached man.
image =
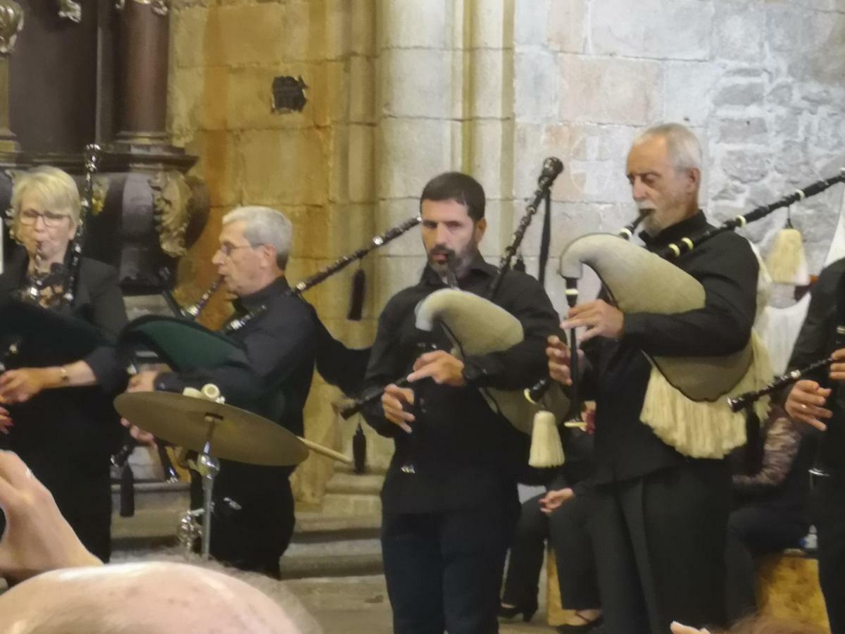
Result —
M722 232L734 231L759 220L772 211L787 207L845 181L845 169L832 178L822 179L750 212L736 216L718 227L681 238L665 249L652 253L612 234L591 234L575 239L560 255L559 274L567 288L577 286L586 265L597 273L611 301L624 313L650 312L677 314L701 309L706 293L701 283L672 264L672 260ZM639 217L619 235L630 238ZM660 292L653 292L660 289ZM758 401L779 385L766 384L771 378L766 348L756 333L736 353L707 357L665 357L646 355L652 370L641 420L669 445L688 456L722 457L744 444L750 435L750 421L764 417L767 402ZM573 355L575 358L575 355ZM815 366L818 367L818 366ZM549 380L532 386L531 396L542 395ZM724 396L732 397L725 408ZM746 414L736 414L745 409ZM735 415L732 415L732 412ZM728 421L727 427L725 426Z

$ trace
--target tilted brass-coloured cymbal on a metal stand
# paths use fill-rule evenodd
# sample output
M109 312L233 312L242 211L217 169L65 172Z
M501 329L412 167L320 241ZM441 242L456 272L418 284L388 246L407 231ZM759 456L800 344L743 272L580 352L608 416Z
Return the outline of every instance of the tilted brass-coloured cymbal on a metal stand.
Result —
M246 410L172 392L121 394L123 418L173 445L202 451L211 429L210 454L271 467L303 462L308 448L287 429Z

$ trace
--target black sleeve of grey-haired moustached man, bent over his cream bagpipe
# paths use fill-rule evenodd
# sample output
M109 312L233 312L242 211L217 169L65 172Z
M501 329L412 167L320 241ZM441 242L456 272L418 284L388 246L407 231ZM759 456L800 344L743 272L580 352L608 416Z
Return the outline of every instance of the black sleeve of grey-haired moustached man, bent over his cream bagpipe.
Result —
M647 354L664 356L741 350L755 319L759 271L755 255L743 238L722 239L707 246L702 264L690 274L704 287L704 308L679 314L625 314L624 341Z

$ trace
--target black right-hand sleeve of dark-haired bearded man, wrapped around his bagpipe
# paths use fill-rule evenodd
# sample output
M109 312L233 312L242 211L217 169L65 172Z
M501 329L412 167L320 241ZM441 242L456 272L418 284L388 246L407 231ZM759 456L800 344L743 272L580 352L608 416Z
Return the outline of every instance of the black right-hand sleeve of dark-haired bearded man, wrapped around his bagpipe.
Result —
M496 303L520 320L522 342L502 352L469 356L465 362L481 369L477 385L521 390L548 375L546 339L558 332L559 317L546 291L532 276L512 271L508 277L509 283L499 289Z

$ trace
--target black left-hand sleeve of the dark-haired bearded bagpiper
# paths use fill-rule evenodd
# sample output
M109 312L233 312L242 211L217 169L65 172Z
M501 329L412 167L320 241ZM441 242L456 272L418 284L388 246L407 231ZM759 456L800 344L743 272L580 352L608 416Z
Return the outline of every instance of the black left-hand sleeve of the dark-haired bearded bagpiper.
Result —
M367 374L364 377L364 396L381 390L384 385L390 385L406 369L406 359L402 358L403 353L398 340L402 319L406 311L411 308L410 303L406 305L402 296L397 295L387 303L379 315L379 329L370 350ZM381 407L380 399L364 406L362 413L370 427L380 435L394 438L400 433L405 433L400 427L384 418L384 408Z

